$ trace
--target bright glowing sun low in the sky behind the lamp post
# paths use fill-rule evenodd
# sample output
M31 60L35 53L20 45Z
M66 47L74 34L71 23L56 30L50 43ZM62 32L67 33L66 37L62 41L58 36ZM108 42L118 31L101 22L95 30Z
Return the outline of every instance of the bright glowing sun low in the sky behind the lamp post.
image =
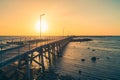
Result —
M40 24L41 24L41 32L46 32L48 29L48 24L45 20L43 20L41 23L38 21L35 25L35 29L37 32L40 32Z

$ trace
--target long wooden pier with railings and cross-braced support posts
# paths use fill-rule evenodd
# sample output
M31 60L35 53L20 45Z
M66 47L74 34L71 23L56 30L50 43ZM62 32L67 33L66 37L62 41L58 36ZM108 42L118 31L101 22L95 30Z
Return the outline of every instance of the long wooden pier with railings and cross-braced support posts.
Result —
M0 80L32 80L31 64L38 64L40 71L44 72L44 59L51 65L55 56L61 56L62 50L72 38L20 38L0 41Z

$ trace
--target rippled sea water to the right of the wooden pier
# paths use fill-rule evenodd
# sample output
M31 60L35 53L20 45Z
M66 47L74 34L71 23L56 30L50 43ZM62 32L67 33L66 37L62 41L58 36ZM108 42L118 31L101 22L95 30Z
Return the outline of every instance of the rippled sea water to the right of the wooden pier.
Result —
M70 42L66 46L55 71L77 80L120 80L120 37L87 38L93 41ZM96 61L91 60L94 56Z

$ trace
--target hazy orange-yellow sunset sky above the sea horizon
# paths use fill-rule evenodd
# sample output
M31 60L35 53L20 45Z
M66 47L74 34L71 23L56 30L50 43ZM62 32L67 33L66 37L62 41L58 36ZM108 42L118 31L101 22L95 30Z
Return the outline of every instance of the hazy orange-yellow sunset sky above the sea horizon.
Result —
M120 0L0 0L0 35L120 35Z

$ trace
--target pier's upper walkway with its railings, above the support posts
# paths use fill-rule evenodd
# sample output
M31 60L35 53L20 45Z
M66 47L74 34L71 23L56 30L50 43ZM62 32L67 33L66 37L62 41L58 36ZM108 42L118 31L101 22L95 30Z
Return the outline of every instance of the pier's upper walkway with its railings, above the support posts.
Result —
M23 54L34 48L65 39L67 37L19 37L0 40L0 62L12 56Z

